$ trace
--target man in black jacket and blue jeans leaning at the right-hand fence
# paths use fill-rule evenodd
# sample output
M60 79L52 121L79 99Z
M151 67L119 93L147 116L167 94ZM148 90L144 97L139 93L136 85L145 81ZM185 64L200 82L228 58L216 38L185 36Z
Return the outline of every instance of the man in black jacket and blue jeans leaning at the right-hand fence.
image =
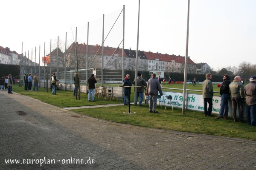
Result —
M215 117L216 119L223 118L224 114L224 119L227 119L228 115L228 100L230 98L230 85L231 81L229 79L229 76L227 74L224 75L223 77L223 82L220 88L220 94L221 94L221 109L219 116Z

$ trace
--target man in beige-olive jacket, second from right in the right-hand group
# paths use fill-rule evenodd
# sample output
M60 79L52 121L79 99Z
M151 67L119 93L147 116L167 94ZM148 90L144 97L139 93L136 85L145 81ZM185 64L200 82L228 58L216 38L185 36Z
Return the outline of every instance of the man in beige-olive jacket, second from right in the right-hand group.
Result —
M242 103L244 102L244 85L243 83L241 83L241 77L236 76L233 82L230 83L229 87L230 87L234 122L237 121L236 107L238 107L239 122L243 122L244 111L243 111Z

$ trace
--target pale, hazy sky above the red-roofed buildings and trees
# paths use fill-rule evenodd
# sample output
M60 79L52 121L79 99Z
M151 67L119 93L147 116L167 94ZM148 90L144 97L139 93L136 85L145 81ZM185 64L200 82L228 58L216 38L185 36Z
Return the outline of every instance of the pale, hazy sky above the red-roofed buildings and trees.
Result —
M116 25L104 46L117 47L122 40L122 8L125 6L126 49L137 49L139 0L4 0L1 2L0 46L39 62L59 44L64 49L75 41L101 44ZM206 62L217 71L256 64L256 0L190 0L188 56ZM188 0L140 0L139 41L141 51L186 55ZM118 18L118 15L121 16ZM117 19L118 18L118 19ZM21 45L23 43L23 46ZM40 45L40 55L39 55ZM23 47L23 48L22 48ZM122 45L120 46L122 48Z

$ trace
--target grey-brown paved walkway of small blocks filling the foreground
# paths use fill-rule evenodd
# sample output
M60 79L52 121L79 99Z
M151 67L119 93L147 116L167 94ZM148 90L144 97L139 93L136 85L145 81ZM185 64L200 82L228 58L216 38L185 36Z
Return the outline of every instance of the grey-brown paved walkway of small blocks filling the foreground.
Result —
M16 93L0 96L1 170L256 169L254 141L118 124Z

